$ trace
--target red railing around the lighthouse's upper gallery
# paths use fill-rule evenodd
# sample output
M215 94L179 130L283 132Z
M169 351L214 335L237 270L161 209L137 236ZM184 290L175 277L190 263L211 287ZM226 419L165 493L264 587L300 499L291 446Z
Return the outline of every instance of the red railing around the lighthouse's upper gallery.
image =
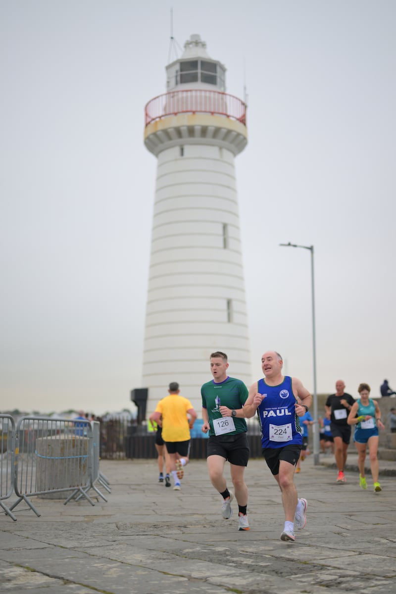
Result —
M235 119L246 126L246 105L242 100L207 89L172 91L151 99L144 109L145 125L178 113L210 113Z

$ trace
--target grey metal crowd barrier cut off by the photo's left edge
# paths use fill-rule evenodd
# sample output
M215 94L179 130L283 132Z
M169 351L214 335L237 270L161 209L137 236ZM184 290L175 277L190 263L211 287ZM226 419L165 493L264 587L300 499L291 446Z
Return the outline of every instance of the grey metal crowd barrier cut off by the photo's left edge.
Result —
M9 517L17 520L3 503L14 493L15 421L12 416L0 415L0 507Z

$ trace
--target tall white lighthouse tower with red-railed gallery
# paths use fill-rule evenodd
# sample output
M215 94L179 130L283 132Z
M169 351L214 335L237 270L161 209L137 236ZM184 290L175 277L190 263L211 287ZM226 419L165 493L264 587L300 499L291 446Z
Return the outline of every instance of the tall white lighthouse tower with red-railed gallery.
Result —
M225 93L226 69L199 35L166 74L167 92L145 106L158 166L142 380L148 414L177 381L199 415L210 353L227 353L230 375L251 383L234 166L246 106Z

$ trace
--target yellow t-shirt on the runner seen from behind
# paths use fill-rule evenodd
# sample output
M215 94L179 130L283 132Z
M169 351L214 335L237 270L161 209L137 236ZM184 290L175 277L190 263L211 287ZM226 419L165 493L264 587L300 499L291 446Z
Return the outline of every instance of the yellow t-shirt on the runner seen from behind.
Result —
M187 411L191 402L180 394L169 394L157 404L156 412L162 415L162 438L164 441L188 441L190 429Z

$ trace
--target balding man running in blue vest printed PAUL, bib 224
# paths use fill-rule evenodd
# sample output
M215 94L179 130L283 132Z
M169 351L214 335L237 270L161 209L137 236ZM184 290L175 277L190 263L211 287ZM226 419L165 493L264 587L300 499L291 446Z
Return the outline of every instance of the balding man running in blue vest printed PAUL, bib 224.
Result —
M299 419L308 412L312 396L300 380L282 374L279 353L264 353L261 367L265 377L250 388L243 412L246 418L258 415L262 454L282 493L285 523L280 538L294 542L294 528L306 525L308 505L305 499L297 497L293 480L302 445Z

